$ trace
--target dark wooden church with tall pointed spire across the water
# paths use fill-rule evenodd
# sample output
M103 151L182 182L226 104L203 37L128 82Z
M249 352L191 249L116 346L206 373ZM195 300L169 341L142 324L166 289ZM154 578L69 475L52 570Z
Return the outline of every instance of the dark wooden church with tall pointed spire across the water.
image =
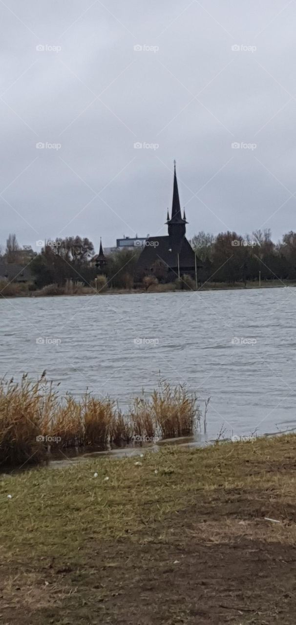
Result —
M168 212L166 219L168 235L146 239L135 267L136 280L154 275L161 281L172 282L185 274L195 279L197 270L202 267L202 263L186 239L187 223L185 209L183 217L181 216L175 161L171 217Z

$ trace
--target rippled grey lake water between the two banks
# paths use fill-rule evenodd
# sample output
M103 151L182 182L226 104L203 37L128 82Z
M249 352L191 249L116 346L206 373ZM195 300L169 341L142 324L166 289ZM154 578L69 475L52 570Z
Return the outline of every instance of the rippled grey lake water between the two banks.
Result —
M208 434L296 427L293 287L3 299L0 374L123 408L159 377L211 397Z

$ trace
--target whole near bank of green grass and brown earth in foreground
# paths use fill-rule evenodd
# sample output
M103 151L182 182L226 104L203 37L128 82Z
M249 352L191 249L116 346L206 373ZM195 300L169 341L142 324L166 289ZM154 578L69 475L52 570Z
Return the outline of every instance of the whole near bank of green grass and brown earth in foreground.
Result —
M2 621L292 625L295 454L289 435L2 476Z

